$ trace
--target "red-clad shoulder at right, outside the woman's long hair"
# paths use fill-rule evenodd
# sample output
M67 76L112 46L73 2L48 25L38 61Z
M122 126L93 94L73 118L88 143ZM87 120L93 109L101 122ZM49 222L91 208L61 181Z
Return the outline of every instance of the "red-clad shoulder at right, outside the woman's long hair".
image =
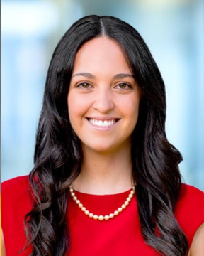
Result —
M192 243L196 230L204 222L204 193L194 186L182 184L175 206L175 216L188 239Z

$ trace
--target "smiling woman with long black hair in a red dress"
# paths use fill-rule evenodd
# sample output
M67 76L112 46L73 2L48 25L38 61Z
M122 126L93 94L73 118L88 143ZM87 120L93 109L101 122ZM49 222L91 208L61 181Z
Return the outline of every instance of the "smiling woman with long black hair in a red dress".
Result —
M47 73L35 167L1 187L6 255L26 237L20 255L201 255L203 192L181 185L165 119L139 33L110 16L74 23Z

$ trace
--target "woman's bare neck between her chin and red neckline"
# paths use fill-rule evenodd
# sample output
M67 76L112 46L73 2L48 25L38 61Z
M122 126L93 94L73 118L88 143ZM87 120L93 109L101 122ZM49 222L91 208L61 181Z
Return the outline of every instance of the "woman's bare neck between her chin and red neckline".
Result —
M75 190L90 194L114 194L132 187L130 146L101 153L83 149L81 172L72 183Z

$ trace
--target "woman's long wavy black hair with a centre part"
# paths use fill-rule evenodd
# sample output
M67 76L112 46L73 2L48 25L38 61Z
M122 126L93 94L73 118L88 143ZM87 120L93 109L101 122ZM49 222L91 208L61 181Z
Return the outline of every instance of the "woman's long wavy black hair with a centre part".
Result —
M174 218L181 187L179 151L166 139L166 96L162 75L147 45L128 23L111 16L86 16L64 34L52 56L30 172L33 209L26 215L26 235L32 256L62 256L69 252L67 198L80 173L83 152L69 122L67 94L74 58L93 38L106 36L123 49L142 100L132 133L132 169L142 235L162 255L183 256L188 242ZM69 209L68 209L69 210Z

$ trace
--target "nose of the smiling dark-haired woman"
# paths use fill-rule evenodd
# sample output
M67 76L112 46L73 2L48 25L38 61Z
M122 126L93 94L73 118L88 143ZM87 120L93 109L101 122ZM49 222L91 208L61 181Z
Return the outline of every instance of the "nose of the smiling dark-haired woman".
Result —
M101 113L107 113L113 110L113 97L110 90L100 90L96 93L95 97L96 99L93 104L94 110L98 110Z

